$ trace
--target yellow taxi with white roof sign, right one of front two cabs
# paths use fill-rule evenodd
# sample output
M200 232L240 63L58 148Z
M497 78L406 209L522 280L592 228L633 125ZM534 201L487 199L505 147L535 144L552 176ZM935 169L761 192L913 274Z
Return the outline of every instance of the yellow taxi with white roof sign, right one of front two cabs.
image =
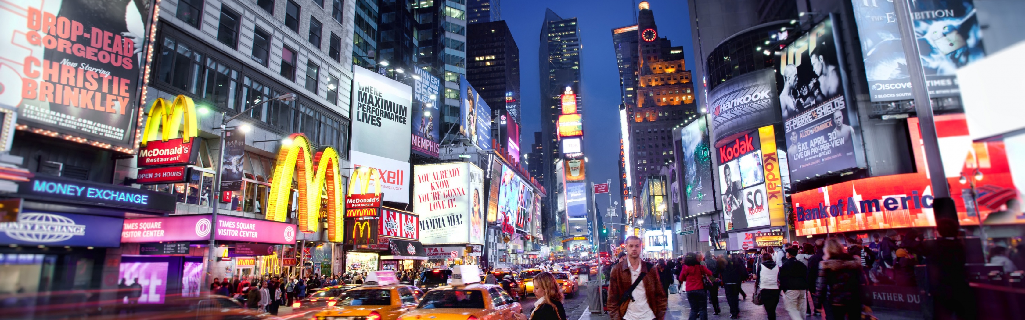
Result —
M477 266L456 266L451 285L427 291L400 320L516 320L520 303L499 285L481 284L479 272Z

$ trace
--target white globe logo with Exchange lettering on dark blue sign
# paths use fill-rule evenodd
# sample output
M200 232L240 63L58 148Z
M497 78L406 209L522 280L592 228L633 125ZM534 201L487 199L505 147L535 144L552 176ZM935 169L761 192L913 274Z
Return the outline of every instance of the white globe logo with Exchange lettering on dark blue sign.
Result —
M22 213L17 222L0 223L0 231L8 237L28 242L60 242L85 235L85 225L52 213Z

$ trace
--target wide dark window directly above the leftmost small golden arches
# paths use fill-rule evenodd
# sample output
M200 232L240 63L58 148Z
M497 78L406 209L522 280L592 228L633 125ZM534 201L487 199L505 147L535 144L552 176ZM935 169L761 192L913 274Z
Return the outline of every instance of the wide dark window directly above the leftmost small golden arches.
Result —
M173 38L164 37L157 78L172 87L197 94L203 72L202 63L203 54L193 51L189 45L177 43Z

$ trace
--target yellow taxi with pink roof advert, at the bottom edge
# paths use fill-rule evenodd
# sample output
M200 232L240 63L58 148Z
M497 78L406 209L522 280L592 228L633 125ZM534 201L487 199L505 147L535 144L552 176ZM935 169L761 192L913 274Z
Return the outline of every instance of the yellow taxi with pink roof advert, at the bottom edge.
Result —
M420 289L399 284L394 271L373 271L362 286L341 292L311 320L397 320L422 296Z

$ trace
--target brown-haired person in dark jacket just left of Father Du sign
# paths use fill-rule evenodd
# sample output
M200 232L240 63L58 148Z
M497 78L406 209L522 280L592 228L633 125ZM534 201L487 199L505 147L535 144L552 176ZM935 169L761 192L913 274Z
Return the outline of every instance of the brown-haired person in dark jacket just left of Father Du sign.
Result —
M826 258L819 263L816 305L825 309L827 319L861 319L861 263L836 239L825 245Z

